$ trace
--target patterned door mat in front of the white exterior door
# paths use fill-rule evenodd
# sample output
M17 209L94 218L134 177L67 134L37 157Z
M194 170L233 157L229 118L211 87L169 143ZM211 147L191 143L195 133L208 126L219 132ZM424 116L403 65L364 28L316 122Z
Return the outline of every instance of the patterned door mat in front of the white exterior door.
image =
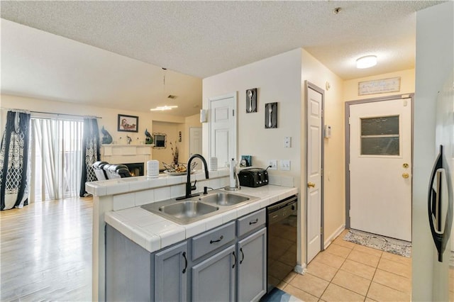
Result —
M343 240L384 252L390 252L395 255L407 258L411 257L411 242L408 241L361 232L359 230L349 230L343 237Z

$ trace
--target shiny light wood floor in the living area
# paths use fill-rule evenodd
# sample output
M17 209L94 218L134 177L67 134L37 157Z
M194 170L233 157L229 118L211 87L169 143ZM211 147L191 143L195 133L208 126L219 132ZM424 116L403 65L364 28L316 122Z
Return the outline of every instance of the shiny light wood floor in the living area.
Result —
M92 300L92 198L0 211L0 301Z

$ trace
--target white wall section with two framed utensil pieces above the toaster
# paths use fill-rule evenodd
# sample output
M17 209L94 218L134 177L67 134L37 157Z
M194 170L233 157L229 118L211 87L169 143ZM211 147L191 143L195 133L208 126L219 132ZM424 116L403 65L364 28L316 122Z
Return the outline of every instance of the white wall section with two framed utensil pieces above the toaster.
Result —
M231 92L238 96L238 156L252 155L255 167L267 167L267 160L291 160L291 171L270 171L297 177L301 169L299 149L301 108L301 50L232 69L203 80L203 104L208 99ZM246 90L258 88L258 112L246 113ZM277 128L265 129L265 104L278 102ZM203 124L208 138L208 123ZM284 148L284 136L292 137L292 147ZM208 155L204 141L204 155ZM299 181L297 181L299 182Z

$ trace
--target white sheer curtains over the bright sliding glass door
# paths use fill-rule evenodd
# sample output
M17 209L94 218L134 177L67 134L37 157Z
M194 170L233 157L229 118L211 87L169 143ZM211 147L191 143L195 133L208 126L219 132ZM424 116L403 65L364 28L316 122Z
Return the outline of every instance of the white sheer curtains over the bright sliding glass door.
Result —
M79 195L82 121L32 118L31 198L45 201Z

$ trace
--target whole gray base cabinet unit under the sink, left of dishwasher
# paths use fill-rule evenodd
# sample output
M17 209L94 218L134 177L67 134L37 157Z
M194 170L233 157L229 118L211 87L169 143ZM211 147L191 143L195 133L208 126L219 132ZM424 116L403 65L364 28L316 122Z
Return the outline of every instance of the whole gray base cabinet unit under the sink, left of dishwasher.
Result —
M107 301L259 301L266 293L265 211L150 253L106 225Z

